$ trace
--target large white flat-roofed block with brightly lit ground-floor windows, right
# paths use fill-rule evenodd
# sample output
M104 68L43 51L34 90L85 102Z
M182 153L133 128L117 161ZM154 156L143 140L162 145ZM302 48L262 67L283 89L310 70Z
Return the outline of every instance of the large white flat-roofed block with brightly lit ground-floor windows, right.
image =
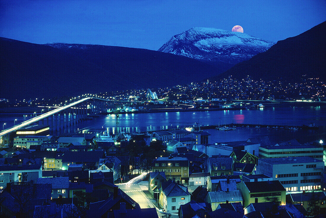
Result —
M257 171L280 181L287 192L321 190L324 162L312 157L261 158Z

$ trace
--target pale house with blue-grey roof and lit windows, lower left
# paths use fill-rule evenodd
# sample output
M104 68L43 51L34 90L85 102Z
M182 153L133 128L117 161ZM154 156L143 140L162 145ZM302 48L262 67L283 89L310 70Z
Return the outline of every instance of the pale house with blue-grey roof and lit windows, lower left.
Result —
M69 198L69 177L38 178L37 184L51 184L52 198Z

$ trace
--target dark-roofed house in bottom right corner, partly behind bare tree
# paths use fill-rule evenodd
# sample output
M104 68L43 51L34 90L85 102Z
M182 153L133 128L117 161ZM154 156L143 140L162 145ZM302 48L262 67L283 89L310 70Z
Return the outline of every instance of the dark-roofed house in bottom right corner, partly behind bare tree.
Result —
M326 214L326 192L290 193L286 195L289 204L301 204L307 211L308 216Z

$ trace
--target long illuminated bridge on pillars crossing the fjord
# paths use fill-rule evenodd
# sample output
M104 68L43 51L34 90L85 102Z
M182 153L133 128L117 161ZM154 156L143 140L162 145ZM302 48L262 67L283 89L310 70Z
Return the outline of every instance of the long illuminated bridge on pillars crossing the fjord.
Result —
M130 103L130 101L114 101L94 97L83 98L62 107L53 109L52 111L33 117L8 129L4 129L0 132L0 142L3 142L3 140L7 140L8 142L10 140L11 133L29 125L49 125L52 126L52 130L57 130L57 128L61 129L68 125L71 126L73 123L80 122L88 115L96 115L99 112L107 110L114 103L121 104L122 102Z

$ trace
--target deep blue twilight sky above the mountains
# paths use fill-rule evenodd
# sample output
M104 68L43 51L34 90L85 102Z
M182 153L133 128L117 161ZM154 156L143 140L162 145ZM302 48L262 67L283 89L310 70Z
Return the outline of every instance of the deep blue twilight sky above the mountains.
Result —
M325 1L0 0L0 36L157 50L192 27L244 33L277 42L326 20Z

